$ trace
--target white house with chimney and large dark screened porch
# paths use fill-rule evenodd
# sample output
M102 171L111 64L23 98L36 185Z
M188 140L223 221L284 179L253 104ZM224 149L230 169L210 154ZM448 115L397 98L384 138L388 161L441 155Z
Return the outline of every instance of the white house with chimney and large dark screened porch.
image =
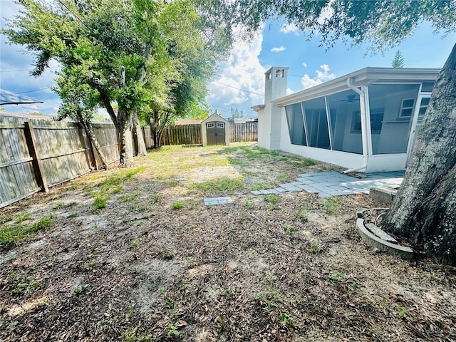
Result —
M359 172L405 170L440 69L363 68L286 95L266 71L258 145Z

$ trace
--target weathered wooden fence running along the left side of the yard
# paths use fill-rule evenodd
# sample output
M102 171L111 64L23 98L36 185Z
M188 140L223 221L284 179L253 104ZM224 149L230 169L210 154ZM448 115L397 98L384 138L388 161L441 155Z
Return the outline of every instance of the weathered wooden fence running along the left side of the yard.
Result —
M118 160L114 126L97 123L94 128L108 162ZM77 123L0 118L0 207L79 177L97 162Z

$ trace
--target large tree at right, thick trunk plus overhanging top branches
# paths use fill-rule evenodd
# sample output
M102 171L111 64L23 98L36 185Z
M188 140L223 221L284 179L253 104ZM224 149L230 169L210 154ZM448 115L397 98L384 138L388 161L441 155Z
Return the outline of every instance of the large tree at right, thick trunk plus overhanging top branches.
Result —
M373 51L391 48L422 21L435 31L456 31L451 0L423 1L247 1L236 6L247 27L259 28L276 15L308 36L321 35L321 45L340 39L352 44L371 41ZM415 248L456 265L456 46L432 91L405 177L384 226L408 237Z

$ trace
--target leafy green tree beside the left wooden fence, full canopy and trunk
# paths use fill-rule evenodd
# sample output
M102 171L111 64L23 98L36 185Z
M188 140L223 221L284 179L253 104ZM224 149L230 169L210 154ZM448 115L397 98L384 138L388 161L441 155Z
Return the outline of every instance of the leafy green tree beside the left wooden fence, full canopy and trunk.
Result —
M24 11L1 33L36 53L34 76L41 75L54 58L74 71L73 83L96 90L96 102L106 108L120 135L120 165L125 167L134 163L133 128L142 134L138 115L159 108L167 115L182 113L189 94L195 86L204 88L208 75L194 74L199 69L195 71L192 58L207 51L213 66L213 58L222 56L230 43L229 24L217 22L213 4L204 1L197 2L198 7L186 0L169 4L154 0L19 2ZM187 28L192 28L188 36ZM197 30L207 39L199 39L202 43L190 53ZM157 71L165 63L170 65L168 75Z

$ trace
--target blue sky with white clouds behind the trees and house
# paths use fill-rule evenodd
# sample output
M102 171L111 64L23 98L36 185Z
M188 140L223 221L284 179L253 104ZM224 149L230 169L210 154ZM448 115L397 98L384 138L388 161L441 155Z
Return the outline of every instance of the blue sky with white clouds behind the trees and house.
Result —
M4 18L14 17L19 8L11 0L0 0L1 28L5 27ZM441 68L456 42L456 33L442 38L442 34L432 33L430 24L423 23L399 46L377 54L368 51L368 43L351 47L341 41L326 51L318 47L318 38L307 41L295 26L270 21L249 43L234 43L229 58L219 63L217 75L208 84L206 100L212 112L217 109L228 118L231 108L237 108L244 115L256 116L251 107L264 103L264 73L272 66L289 67L287 93L366 66L390 67L398 50L405 68ZM53 78L58 63L51 63L51 68L42 76L34 78L29 74L33 69L33 54L23 46L7 44L3 35L0 39L0 88L43 101L32 105L4 105L5 110L56 115L61 100L51 86L55 85Z

